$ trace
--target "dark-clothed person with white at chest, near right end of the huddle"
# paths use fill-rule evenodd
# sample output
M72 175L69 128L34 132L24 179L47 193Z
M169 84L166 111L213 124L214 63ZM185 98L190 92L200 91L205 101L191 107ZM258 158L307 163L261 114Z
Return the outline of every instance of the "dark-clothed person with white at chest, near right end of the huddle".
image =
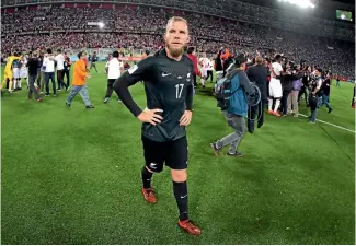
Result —
M311 80L309 84L309 106L310 106L310 122L315 124L317 121L317 114L319 107L319 98L321 96L321 85L323 83L322 80L322 69L317 69L314 71L314 78Z

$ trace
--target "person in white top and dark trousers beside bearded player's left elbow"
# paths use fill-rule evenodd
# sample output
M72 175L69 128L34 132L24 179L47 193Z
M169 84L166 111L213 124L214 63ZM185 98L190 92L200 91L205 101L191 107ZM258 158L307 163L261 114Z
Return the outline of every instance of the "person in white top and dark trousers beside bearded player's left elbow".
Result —
M113 58L107 61L107 90L104 99L106 104L113 94L113 84L124 73L124 62L118 60L118 51L113 52ZM118 102L120 102L118 99Z

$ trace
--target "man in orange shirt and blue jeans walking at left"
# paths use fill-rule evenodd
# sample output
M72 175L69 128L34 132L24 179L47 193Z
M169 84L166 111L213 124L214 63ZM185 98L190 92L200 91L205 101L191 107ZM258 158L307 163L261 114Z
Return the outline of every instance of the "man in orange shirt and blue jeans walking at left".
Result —
M78 58L79 60L74 63L73 82L72 82L73 86L67 97L66 105L67 107L70 107L71 102L79 93L85 104L85 107L94 108L94 106L91 105L91 102L89 99L88 84L85 81L85 79L91 78L91 74L88 72L87 65L85 65L87 54L81 51L78 54Z

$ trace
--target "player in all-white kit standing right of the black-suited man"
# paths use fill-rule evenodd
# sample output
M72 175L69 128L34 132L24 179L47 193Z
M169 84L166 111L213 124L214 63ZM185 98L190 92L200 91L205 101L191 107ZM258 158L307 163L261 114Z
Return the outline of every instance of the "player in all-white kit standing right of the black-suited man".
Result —
M282 68L282 56L275 56L275 62L271 66L271 82L269 82L269 97L268 97L268 114L280 116L278 113L278 107L280 105L280 98L283 95L282 84L280 84L280 75L283 73ZM273 101L275 102L274 110L272 109Z

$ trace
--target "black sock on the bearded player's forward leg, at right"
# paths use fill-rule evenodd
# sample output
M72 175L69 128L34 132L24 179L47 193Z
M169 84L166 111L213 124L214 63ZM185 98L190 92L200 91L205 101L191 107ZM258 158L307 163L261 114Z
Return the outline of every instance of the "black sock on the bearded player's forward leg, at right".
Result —
M188 190L186 181L173 181L173 192L180 210L180 221L188 219Z

